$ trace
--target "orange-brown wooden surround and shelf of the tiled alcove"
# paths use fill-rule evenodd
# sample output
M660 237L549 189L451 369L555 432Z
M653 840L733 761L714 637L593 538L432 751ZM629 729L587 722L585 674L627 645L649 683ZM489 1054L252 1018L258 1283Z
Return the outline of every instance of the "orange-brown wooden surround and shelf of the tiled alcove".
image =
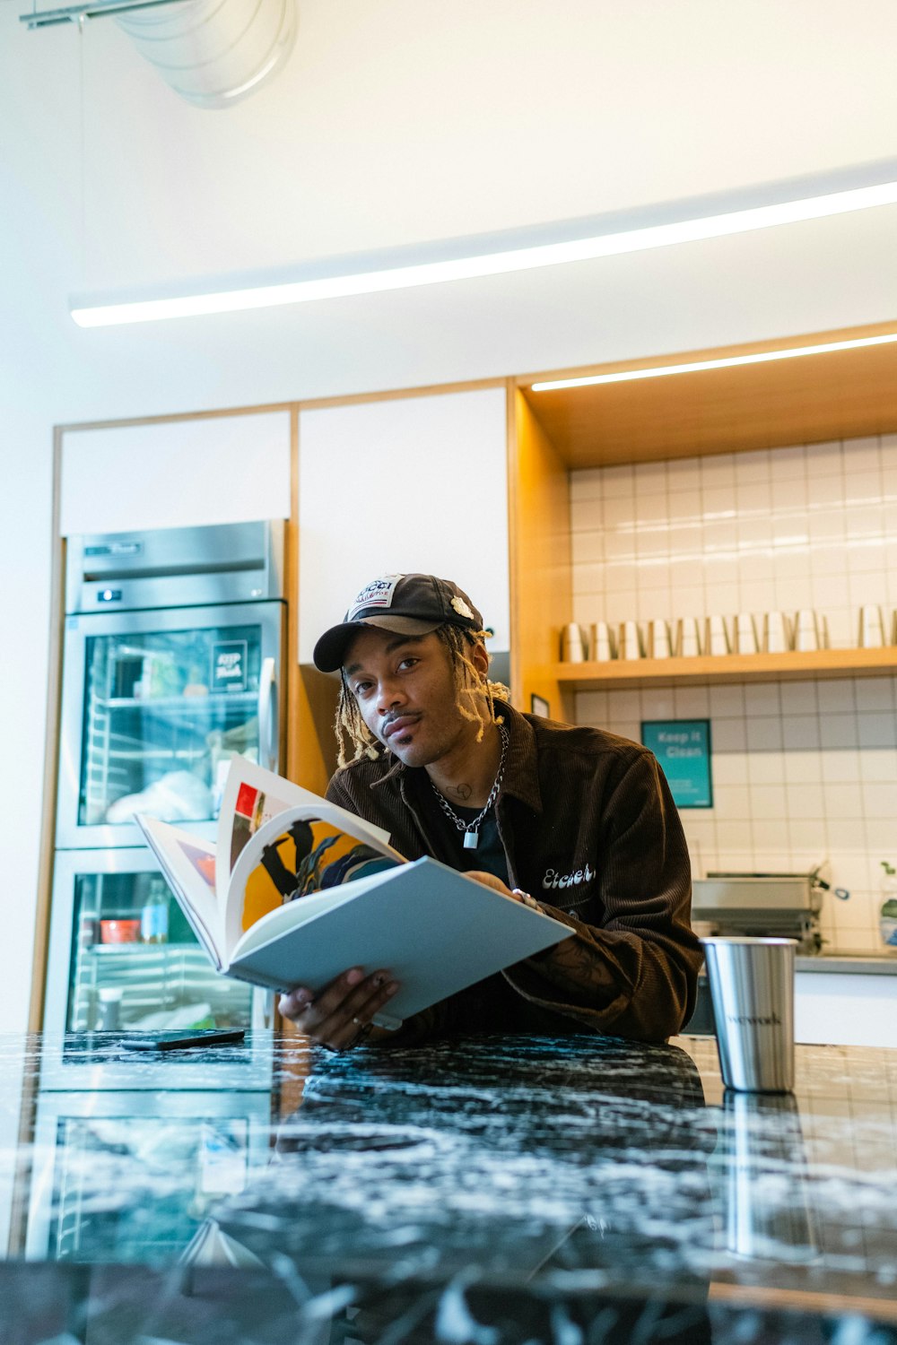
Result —
M897 648L756 654L611 663L559 663L559 635L573 615L569 476L572 471L791 444L826 443L897 428L897 346L771 359L784 347L877 338L890 327L820 332L777 343L565 370L515 379L511 401L512 685L554 717L574 717L574 694L660 681L784 681L888 675ZM632 378L636 369L752 363ZM619 381L534 391L533 383L582 375ZM695 613L699 615L699 613Z

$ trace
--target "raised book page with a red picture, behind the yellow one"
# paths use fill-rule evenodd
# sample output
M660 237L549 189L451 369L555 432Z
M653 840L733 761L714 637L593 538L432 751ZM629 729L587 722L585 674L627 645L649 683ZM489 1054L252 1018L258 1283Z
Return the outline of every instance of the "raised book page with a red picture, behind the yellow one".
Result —
M246 757L234 756L230 761L218 815L218 854L222 857L218 894L222 908L226 907L230 876L246 843L272 818L285 812L286 808L303 804L323 807L327 810L327 815L338 814L347 818L352 823L363 826L374 843L389 846L390 834L382 827L360 822L351 812L344 812L336 804L320 799L311 790L303 790L301 785L292 784L272 771L265 771Z

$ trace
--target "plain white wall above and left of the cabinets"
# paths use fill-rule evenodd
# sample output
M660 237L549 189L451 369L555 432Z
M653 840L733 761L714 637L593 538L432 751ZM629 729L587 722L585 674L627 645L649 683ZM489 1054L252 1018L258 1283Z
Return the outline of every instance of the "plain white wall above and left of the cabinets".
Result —
M4 985L24 1024L51 429L687 350L894 317L897 208L296 311L81 331L67 296L589 215L893 152L890 0L303 0L227 112L112 20L0 15ZM83 71L83 78L82 78ZM836 114L835 114L836 113Z

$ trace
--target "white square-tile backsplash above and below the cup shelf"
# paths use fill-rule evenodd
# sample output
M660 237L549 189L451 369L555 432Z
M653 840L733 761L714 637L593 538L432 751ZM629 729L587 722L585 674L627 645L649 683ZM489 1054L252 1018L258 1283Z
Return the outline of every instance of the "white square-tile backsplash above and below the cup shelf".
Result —
M570 475L574 619L703 619L812 607L855 646L861 604L897 608L897 434ZM890 510L889 510L890 506ZM714 807L683 810L697 876L831 863L830 951L875 952L897 863L897 678L584 691L576 717L636 737L709 718Z

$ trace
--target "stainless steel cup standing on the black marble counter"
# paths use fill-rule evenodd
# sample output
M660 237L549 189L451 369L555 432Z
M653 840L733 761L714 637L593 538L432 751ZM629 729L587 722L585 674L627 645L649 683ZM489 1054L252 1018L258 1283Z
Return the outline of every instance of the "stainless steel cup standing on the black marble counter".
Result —
M738 1092L795 1085L793 939L702 939L719 1071Z

